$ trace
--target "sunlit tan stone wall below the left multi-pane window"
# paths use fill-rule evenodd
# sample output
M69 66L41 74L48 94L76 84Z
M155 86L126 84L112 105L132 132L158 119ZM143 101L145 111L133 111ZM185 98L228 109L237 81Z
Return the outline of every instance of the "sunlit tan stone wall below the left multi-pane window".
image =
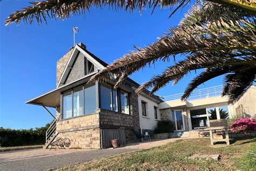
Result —
M60 120L56 131L70 139L70 148L100 148L99 113Z

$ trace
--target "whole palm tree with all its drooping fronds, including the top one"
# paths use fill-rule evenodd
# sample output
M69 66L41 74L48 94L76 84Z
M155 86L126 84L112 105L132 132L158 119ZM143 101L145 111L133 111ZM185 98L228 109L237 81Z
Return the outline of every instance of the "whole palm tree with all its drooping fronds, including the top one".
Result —
M33 7L10 15L5 24L12 22L19 24L21 18L30 24L33 18L36 18L38 23L42 23L42 18L46 21L46 15L55 17L56 14L60 19L68 18L70 12L84 13L92 5L100 8L109 5L130 11L142 10L147 2L85 0L35 2ZM159 4L162 7L172 8L173 5L180 3L178 9L189 1L149 2L148 5L153 6L153 9ZM170 81L176 84L191 71L206 68L188 84L181 99L190 96L200 84L225 74L222 95L228 96L229 103L234 103L252 85L256 75L255 11L251 12L211 2L197 3L177 27L171 27L157 42L144 48L136 47L137 51L114 61L93 76L89 82L111 77L117 81L115 85L117 87L128 75L139 69L154 65L159 60L169 61L170 56L175 58L179 54L185 56L185 60L178 61L162 74L153 76L149 82L140 86L137 92L144 88L152 88L151 93L156 92Z

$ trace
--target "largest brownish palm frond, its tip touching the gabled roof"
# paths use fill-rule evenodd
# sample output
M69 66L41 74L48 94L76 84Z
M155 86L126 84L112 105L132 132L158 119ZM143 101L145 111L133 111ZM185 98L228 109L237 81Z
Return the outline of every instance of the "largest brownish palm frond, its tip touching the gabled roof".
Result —
M178 27L170 28L169 32L154 44L145 48L137 48L138 51L132 51L114 61L93 76L90 81L106 79L110 73L119 78L122 73L130 75L143 67L154 64L157 60L169 60L170 56L176 54L256 49L254 17L239 10L226 10L215 4L210 7L200 11L199 7L195 6ZM218 10L218 16L205 15L206 12ZM190 17L195 13L204 18ZM118 82L122 80L119 79Z

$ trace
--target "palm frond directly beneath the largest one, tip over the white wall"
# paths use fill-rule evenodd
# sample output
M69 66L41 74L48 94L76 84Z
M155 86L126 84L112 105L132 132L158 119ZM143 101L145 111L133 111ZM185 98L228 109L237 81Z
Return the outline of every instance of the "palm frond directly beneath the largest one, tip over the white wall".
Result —
M187 56L185 60L179 61L176 65L167 68L163 74L154 76L149 82L144 83L137 89L137 93L143 90L144 88L151 88L151 94L163 88L167 83L173 81L173 84L176 84L180 79L182 79L186 74L190 73L193 70L202 69L202 68L212 68L212 67L228 67L228 66L246 66L251 64L256 64L256 58L252 56L255 51L246 51L246 52L197 52L192 53L190 56ZM230 70L226 70L230 72ZM206 70L207 73L207 70ZM223 73L225 74L225 72ZM222 74L221 74L222 75ZM205 75L203 75L205 76ZM199 78L201 78L200 76ZM202 80L201 80L202 81ZM201 83L200 79L195 81L198 85L191 87L191 91L199 86ZM190 91L190 89L188 89ZM184 98L190 95L185 92Z

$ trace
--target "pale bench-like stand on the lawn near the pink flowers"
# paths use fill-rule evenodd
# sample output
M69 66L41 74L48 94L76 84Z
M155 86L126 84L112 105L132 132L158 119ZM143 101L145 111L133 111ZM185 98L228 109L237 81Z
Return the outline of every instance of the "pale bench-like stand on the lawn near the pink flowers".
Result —
M210 131L211 145L218 142L225 142L226 145L230 145L227 129L226 119L210 120L210 127L205 129L205 131Z

